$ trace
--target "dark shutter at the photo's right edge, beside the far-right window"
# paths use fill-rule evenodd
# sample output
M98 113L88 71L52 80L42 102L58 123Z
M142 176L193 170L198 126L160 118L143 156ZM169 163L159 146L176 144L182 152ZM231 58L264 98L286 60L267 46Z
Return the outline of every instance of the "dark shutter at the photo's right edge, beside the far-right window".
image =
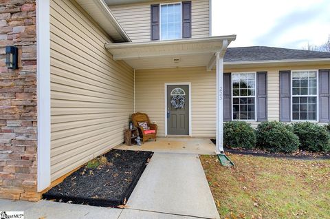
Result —
M329 93L330 93L330 70L320 70L319 77L318 77L318 92L319 92L319 120L321 123L329 123L330 116L329 116Z

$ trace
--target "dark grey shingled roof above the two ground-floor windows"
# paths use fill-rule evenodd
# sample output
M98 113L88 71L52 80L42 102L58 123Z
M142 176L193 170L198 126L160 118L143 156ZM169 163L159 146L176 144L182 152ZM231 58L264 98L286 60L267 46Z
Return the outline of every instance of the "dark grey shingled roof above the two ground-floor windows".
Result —
M296 59L330 59L330 52L251 46L228 48L224 57L225 62L283 61Z

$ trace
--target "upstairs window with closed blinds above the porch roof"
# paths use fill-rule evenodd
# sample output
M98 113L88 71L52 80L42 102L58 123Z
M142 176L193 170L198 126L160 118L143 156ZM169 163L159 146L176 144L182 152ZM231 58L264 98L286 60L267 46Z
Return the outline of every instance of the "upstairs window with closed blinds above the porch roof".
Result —
M160 5L160 39L181 39L181 3Z

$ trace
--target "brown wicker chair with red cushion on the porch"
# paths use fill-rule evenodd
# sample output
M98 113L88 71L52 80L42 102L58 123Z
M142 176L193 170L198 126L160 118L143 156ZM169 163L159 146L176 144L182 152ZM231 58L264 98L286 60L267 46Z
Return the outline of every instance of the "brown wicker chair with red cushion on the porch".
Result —
M140 137L142 138L142 142L148 140L149 138L153 138L156 141L157 136L157 125L152 124L150 122L150 119L147 114L137 112L135 114L132 114L132 121L133 125L137 127L140 133ZM139 125L139 123L145 122L148 127L150 127L150 130L144 130L142 126Z

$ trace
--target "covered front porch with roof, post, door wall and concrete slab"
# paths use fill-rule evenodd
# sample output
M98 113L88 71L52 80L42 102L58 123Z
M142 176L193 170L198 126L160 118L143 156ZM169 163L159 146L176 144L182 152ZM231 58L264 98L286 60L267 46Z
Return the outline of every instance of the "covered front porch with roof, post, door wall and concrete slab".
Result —
M201 39L106 43L115 61L124 61L134 70L134 112L148 114L157 124L157 136L215 136L210 140L160 140L142 149L192 154L223 153L223 56L236 36ZM215 68L215 71L214 71ZM184 104L174 107L173 91L181 90ZM177 95L177 94L175 94ZM175 96L174 95L174 96ZM181 104L181 103L180 103ZM175 114L173 116L173 114ZM163 141L163 142L162 142Z

